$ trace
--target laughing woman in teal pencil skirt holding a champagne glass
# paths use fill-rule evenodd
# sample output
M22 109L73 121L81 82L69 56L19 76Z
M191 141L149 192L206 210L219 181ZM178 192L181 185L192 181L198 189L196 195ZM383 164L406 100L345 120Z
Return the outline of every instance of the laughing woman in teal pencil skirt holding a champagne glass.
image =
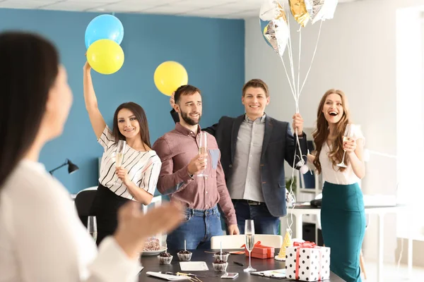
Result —
M328 90L317 113L312 136L317 151L308 159L322 173L321 224L330 269L347 282L359 282L360 249L365 235L365 207L359 182L365 176L365 138L349 121L348 101L341 90Z

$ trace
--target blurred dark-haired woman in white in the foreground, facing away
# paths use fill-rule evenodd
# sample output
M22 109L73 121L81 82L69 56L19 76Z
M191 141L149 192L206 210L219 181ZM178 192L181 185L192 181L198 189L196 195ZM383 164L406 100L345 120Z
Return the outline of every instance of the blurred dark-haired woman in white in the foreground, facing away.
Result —
M69 192L38 161L61 135L72 92L54 45L25 32L0 33L0 281L138 281L146 238L171 231L181 208L143 215L119 210L117 231L99 251Z

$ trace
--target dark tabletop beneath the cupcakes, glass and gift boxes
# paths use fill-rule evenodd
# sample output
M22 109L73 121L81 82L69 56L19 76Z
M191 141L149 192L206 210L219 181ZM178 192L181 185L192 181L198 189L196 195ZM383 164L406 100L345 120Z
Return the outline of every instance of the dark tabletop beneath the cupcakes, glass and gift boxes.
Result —
M208 271L189 271L191 274L196 274L199 276L206 276L206 277L199 277L202 282L209 282L209 281L292 281L291 279L271 279L271 278L265 278L260 276L254 276L249 273L246 273L243 271L243 269L247 268L249 266L249 257L245 255L230 255L228 258L228 268L227 272L237 272L239 276L234 279L221 279L220 276L223 275L221 272L216 272L213 270L212 262L213 262L213 254L209 254L204 252L205 250L192 250L192 262L206 262L208 264ZM212 250L212 251L218 251L218 250ZM279 249L276 249L276 255L278 254ZM165 264L160 265L158 261L158 255L153 256L142 256L141 257L141 264L144 266L144 269L141 271L139 275L139 281L165 281L160 278L156 278L153 276L148 276L146 274L147 271L170 271L173 273L177 272L184 272L187 273L188 271L181 271L179 268L179 259L177 257L177 252L168 250L170 254L173 256L171 264ZM234 262L241 262L244 264L244 266L240 266L235 264ZM264 271L264 270L272 270L272 269L284 269L285 263L284 262L278 262L276 259L255 259L252 257L252 267L254 269L257 269L257 271ZM342 282L343 280L341 278L338 278L336 274L331 273L330 279L325 281L331 281L331 282Z

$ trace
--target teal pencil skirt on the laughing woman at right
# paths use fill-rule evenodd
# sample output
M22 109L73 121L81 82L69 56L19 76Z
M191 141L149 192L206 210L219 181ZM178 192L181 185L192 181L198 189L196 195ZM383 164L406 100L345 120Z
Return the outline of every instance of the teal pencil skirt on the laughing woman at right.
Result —
M330 270L347 282L360 282L359 256L365 235L363 193L358 183L324 183L322 238L331 248Z

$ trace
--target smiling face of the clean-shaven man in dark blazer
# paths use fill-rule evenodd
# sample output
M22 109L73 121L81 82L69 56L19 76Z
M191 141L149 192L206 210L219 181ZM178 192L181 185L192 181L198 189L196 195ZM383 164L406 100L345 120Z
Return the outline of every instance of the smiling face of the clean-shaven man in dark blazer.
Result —
M247 116L254 121L264 116L265 107L269 104L269 97L266 97L266 93L261 87L247 87L242 96L242 104L245 105Z

